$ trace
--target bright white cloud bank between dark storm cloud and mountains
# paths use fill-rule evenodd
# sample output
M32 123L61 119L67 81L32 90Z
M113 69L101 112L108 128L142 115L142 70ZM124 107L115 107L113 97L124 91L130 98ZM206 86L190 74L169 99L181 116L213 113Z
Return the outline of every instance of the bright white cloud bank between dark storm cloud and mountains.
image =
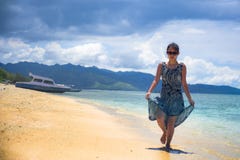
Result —
M121 23L127 24L127 21ZM42 45L16 38L0 38L0 58L4 63L23 60L45 64L73 63L155 74L157 64L167 61L167 45L174 41L180 46L179 61L187 64L190 83L240 87L239 28L240 23L230 21L177 20L148 33L127 36L76 35L73 40ZM76 28L72 26L69 30L72 36Z

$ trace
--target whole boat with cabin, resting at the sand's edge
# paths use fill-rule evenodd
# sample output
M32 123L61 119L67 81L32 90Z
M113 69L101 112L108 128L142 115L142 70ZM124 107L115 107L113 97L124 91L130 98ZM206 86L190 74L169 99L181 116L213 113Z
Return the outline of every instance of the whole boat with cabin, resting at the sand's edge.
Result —
M56 84L53 79L33 75L29 73L32 78L30 82L16 82L15 86L20 88L32 89L43 92L63 93L63 92L80 92L79 89L72 89L63 84Z

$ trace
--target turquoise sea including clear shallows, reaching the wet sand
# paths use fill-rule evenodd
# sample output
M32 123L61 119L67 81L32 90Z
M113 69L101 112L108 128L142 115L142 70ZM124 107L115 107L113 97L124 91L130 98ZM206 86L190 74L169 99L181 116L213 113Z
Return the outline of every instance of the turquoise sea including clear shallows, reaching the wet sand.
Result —
M158 95L154 93L151 96ZM210 145L210 141L214 141L212 142L213 146L227 145L228 148L232 146L234 153L230 154L232 151L229 151L229 154L240 157L240 95L191 95L195 101L195 109L183 123L184 128L191 131L190 134L199 136L199 139L206 139L209 142L206 147ZM83 90L79 93L64 93L64 96L70 96L102 108L114 109L123 114L148 119L145 92ZM188 102L185 95L184 100L185 106L187 106ZM221 148L221 150L225 152L226 148Z

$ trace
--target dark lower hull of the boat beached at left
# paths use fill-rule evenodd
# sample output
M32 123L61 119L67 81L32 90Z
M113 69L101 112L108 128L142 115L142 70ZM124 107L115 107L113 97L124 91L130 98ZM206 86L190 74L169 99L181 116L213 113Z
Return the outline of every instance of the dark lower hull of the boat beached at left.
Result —
M51 92L51 93L64 93L64 92L69 92L71 90L70 87L33 84L31 82L16 82L15 86L19 88L26 88L26 89L32 89L32 90L37 90L42 92Z

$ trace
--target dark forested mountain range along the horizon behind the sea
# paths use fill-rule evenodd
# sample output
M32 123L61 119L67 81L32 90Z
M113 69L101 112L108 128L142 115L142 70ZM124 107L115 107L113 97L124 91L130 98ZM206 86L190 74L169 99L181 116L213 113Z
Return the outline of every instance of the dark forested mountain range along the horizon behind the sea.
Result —
M142 72L113 72L97 67L83 67L80 65L55 64L52 66L32 63L0 63L0 68L8 72L28 76L29 72L33 74L46 76L54 79L56 83L74 85L81 89L109 89L109 90L141 90L147 91L154 76ZM161 82L155 89L159 92ZM230 86L215 86L206 84L189 85L192 93L213 93L213 94L240 94L240 89Z

